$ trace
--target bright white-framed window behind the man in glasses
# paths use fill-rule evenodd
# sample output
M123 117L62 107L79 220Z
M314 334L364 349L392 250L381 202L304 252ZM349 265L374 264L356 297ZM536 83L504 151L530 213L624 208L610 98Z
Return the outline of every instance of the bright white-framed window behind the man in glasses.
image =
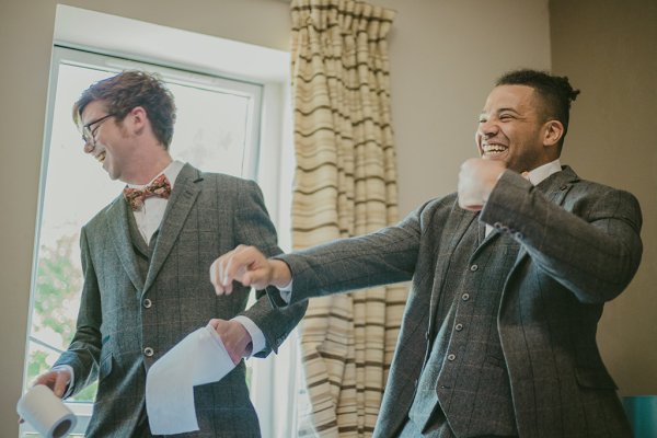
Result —
M97 14L58 5L58 20L66 18L60 9L70 13L71 19L80 13L91 14L85 16L87 22L90 16L93 19ZM151 26L148 23L139 24L143 32ZM130 21L130 25L135 23ZM120 28L116 25L99 26L101 27ZM164 31L162 26L157 26L157 32ZM252 78L244 80L208 74L207 68L193 71L192 67L178 62L165 62L169 67L145 64L128 59L139 58L134 54L129 55L108 56L90 51L90 48L80 50L61 46L54 49L42 163L25 387L51 366L74 333L83 280L78 244L80 228L116 197L124 186L120 182L110 181L105 171L82 152L80 134L71 120L72 103L91 83L124 69L159 72L174 94L177 106L177 120L170 147L173 158L187 161L204 171L223 172L258 181L279 231L281 246L286 247L286 242L289 241L287 233L281 232L281 221L278 220L289 217L289 170L292 165L290 146L281 146L286 142L286 134L280 127L284 125L280 119L283 113L287 112L283 89ZM171 67L173 65L176 68ZM280 169L288 171L280 172ZM281 175L288 180L281 181ZM280 187L287 188L279 193ZM283 226L288 220L283 220ZM281 381L279 374L287 373L283 379L286 387L280 391L289 393L293 399L287 380L292 385L296 381L296 367L290 366L292 362L296 362L293 336L290 336L277 357L247 361L254 368L252 399L265 437L289 436L289 430L293 427L295 410L283 406L286 410L283 415L274 412L281 406L273 403L270 387L270 379ZM264 384L265 381L269 384ZM69 401L70 407L79 417L76 433L82 434L87 426L94 394L95 384ZM23 425L22 436L31 435L30 425Z

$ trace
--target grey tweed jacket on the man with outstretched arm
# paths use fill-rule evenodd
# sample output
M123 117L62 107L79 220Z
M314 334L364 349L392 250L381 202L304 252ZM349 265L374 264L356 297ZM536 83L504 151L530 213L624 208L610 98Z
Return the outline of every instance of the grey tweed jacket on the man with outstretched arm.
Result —
M641 209L631 194L583 181L567 166L537 187L505 172L481 214L461 209L451 194L397 226L277 256L292 272L291 303L412 279L374 437L395 436L407 418L428 339L441 324L435 310L442 281L448 269L468 270L450 261L477 220L520 244L510 273L504 274L497 315L504 353L499 372L508 372L520 437L631 437L596 330L603 303L623 291L638 267ZM499 273L489 267L480 275ZM268 293L283 304L274 289ZM462 382L477 378L476 365L460 366ZM459 381L448 392L437 384L457 437L486 429L477 423L475 405L485 408L481 400L494 390L487 383L476 393Z

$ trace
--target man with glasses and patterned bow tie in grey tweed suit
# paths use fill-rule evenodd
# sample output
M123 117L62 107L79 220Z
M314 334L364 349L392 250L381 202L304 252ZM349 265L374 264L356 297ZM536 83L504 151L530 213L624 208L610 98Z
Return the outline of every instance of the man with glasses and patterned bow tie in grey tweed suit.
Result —
M208 281L212 261L238 244L280 253L260 187L171 158L175 105L151 74L126 71L92 84L73 120L84 152L127 186L82 228L76 335L36 383L69 396L97 379L87 436L149 437L147 370L209 322L237 367L195 388L199 431L181 436L260 436L242 358L276 351L306 304L275 310L258 293L245 309L249 287L218 297Z

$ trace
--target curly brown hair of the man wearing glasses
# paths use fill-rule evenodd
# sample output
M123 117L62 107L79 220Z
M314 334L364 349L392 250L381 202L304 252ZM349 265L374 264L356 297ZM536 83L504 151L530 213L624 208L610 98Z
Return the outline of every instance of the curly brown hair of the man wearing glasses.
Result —
M73 122L77 125L84 107L94 101L102 101L107 113L119 122L136 106L143 107L155 138L164 149L169 149L175 124L175 103L159 76L128 70L95 82L73 104Z

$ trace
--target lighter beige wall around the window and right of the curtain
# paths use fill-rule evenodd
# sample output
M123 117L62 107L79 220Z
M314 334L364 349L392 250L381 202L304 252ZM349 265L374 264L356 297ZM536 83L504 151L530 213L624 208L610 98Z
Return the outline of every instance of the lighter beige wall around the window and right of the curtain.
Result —
M548 0L372 1L399 11L390 50L405 215L456 188L460 163L475 153L476 117L494 78L520 66L550 68ZM279 0L64 2L273 48L288 45L288 7ZM55 0L0 1L2 437L18 435L14 407L21 393L55 9Z

